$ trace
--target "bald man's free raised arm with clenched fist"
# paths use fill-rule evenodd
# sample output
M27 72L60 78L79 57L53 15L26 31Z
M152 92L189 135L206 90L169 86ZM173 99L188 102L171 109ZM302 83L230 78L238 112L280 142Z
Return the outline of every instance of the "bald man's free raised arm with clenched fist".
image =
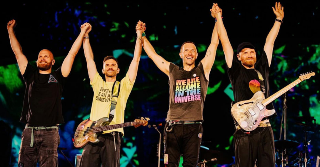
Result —
M22 53L22 48L20 43L17 40L16 34L14 33L14 27L16 27L16 20L11 20L8 22L7 29L10 38L10 44L13 53L16 55L16 59L20 68L20 72L23 75L26 71L28 60L27 57Z

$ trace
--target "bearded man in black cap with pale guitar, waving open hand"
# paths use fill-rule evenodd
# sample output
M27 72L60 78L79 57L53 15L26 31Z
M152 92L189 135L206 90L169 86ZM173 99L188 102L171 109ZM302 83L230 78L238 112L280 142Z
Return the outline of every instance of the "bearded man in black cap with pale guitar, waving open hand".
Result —
M218 14L218 32L226 56L227 71L235 102L249 100L257 91L265 92L265 97L269 97L269 69L273 45L284 17L283 9L280 3L276 3L273 8L276 21L268 34L258 62L256 62L255 48L249 42L241 43L234 57L221 13ZM266 108L274 110L272 103ZM237 126L234 133L234 148L236 167L254 167L255 164L259 167L275 167L274 138L269 119L262 120L260 125L249 134Z

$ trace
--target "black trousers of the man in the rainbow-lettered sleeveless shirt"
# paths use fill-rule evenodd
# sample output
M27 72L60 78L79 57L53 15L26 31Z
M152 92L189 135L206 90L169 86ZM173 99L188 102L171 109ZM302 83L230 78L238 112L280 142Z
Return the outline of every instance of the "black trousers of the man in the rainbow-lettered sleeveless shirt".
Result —
M180 156L183 156L182 166L196 167L202 140L202 124L172 125L172 131L164 128L164 158L168 158L166 167L178 167Z

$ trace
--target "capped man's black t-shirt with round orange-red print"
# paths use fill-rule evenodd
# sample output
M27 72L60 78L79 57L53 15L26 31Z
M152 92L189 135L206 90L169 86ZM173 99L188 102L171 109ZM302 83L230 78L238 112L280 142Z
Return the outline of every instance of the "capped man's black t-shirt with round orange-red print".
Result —
M269 63L266 52L263 50L262 56L256 62L254 68L258 70L262 77L265 86L265 98L270 96L269 92ZM228 76L233 89L233 96L235 102L249 100L252 96L261 91L260 80L258 73L254 69L246 69L241 61L236 56L233 57L231 68L227 65ZM266 107L268 110L273 110L273 104L270 103ZM276 115L276 114L275 114Z

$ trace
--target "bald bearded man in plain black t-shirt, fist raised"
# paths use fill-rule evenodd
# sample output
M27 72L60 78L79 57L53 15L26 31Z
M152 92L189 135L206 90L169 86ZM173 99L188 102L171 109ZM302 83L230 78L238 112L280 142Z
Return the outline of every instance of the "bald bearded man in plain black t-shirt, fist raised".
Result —
M43 49L38 55L37 69L28 63L14 33L16 21L8 22L7 29L12 50L26 84L20 121L26 124L21 135L18 166L58 166L57 148L60 143L58 125L62 117L61 94L84 34L89 28L85 23L62 66L52 72L55 60L51 51Z

